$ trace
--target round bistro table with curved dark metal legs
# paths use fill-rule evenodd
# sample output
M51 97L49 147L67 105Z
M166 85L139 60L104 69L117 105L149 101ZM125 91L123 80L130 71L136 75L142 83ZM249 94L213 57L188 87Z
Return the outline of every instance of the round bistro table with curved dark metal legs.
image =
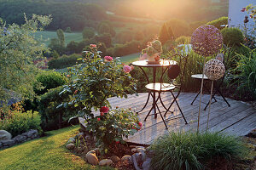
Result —
M150 83L149 79L148 79L148 75L143 70L143 67L153 68L153 83L155 83L156 68L163 68L163 69L165 68L165 71L162 70L162 74L164 74L166 72L166 69L168 69L169 66L176 65L176 64L177 64L177 62L174 60L161 60L160 63L150 64L150 63L148 63L147 59L135 61L132 63L132 65L138 66L143 71L143 74L146 77L148 84ZM148 105L148 100L149 100L150 94L151 94L151 92L148 92L148 99L141 111L143 111L145 109L145 107ZM152 104L152 108L150 111L152 111L152 109L154 109L154 118L157 118L157 113L156 113L156 109L155 109L155 107L156 107L155 92L153 92L152 98L153 98L153 104ZM137 113L139 113L141 111L137 111ZM149 112L148 112L148 114L149 114Z

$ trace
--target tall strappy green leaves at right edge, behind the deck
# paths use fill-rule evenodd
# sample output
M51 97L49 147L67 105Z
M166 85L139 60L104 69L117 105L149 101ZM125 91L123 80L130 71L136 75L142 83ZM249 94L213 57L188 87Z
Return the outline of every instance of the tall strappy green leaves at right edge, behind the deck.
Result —
M247 92L256 99L256 49L249 49L249 54L236 54L237 63L232 79L238 85L238 94L246 94Z

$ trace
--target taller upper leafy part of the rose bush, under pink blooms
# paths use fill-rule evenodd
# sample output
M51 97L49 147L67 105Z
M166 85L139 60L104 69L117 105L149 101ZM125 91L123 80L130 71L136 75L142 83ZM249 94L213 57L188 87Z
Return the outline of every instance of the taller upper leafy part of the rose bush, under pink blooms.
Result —
M69 69L68 85L61 92L71 94L72 97L71 103L62 106L74 105L80 110L79 115L85 117L93 117L92 108L97 110L109 105L109 97L127 97L127 94L133 94L136 90L135 80L123 71L119 59L102 59L96 44L91 44L90 48L91 52L84 52L82 63Z

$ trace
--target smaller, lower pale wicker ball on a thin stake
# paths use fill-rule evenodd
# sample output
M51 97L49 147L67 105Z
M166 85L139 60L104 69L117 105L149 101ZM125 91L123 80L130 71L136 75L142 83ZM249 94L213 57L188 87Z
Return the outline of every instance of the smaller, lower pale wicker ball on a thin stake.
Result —
M205 65L205 74L210 80L218 80L224 77L225 66L218 59L211 59Z

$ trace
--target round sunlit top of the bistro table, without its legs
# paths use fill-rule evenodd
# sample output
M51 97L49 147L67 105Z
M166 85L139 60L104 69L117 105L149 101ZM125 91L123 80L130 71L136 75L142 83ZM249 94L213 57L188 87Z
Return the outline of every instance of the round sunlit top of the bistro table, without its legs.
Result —
M132 62L132 65L135 66L141 66L141 67L166 67L166 66L171 66L171 65L176 65L176 61L174 60L161 60L160 63L158 64L148 64L148 60L139 60L139 61L134 61Z

